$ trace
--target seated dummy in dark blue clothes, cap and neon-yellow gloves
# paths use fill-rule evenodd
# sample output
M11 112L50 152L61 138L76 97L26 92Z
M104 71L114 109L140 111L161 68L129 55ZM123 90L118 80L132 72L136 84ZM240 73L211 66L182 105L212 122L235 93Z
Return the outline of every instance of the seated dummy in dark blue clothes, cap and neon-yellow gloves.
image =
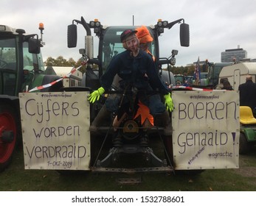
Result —
M159 79L156 65L152 57L142 49L139 49L139 39L136 37L136 30L127 29L121 34L121 42L125 45L126 51L117 54L108 65L105 74L100 79L101 87L94 90L89 95L89 102L94 103L100 99L100 96L105 93L105 90L111 88L111 84L117 74L120 80L120 89L125 91L136 91L140 102L147 105L152 116L165 113L166 109L173 110L173 101L170 97L169 90ZM165 98L165 105L161 99L152 98L153 91L162 93ZM105 101L106 109L111 113L117 114L118 124L114 125L116 131L115 137L118 137L117 127L120 124L120 119L128 113L130 109L127 107L128 99L122 93L116 93L114 98L108 98Z

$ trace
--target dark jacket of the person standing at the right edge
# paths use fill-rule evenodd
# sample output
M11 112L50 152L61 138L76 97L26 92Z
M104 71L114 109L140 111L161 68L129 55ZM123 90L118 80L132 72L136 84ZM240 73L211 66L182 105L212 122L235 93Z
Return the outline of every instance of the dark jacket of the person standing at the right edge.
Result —
M239 85L240 105L249 106L252 110L256 107L256 84L252 80L247 80Z

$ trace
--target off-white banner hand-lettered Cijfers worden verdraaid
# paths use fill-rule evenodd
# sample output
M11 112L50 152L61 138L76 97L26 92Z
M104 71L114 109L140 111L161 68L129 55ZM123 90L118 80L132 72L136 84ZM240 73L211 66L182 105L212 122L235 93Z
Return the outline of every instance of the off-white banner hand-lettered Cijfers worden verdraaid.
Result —
M89 170L88 92L19 93L26 169Z

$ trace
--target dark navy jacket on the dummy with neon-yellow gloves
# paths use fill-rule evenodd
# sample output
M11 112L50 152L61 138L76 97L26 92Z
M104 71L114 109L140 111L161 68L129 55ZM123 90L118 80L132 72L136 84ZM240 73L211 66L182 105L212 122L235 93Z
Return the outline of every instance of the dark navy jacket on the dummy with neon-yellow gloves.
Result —
M169 92L159 79L152 57L145 51L139 50L139 54L136 57L131 57L131 51L128 50L117 54L111 60L105 74L100 79L100 83L105 90L111 87L116 74L125 85L132 85L138 90L150 90L153 88L153 90L158 89L162 94Z

